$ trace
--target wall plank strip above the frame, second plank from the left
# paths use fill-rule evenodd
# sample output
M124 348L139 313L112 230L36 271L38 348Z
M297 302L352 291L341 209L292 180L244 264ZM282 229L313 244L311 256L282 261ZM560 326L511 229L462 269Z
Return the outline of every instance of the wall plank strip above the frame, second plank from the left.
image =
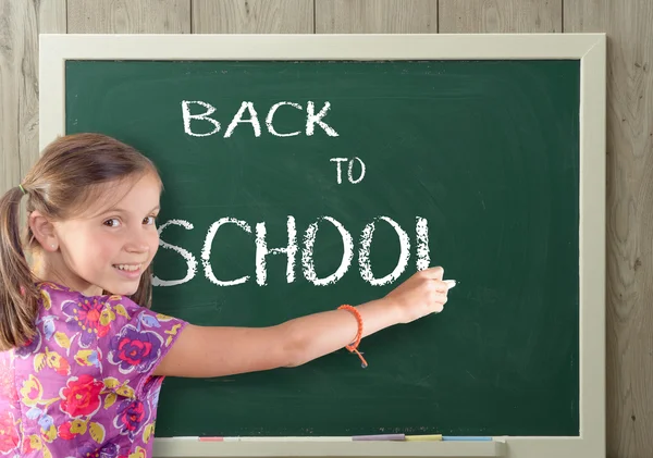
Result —
M69 34L189 34L190 0L67 0Z

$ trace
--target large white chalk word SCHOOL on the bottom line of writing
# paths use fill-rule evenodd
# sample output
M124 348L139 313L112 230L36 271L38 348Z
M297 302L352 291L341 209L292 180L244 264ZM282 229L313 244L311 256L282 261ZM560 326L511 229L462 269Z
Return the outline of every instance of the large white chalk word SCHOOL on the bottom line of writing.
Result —
M397 234L399 239L399 258L397 260L396 267L394 270L387 275L377 278L372 273L372 265L370 262L370 250L372 245L372 237L374 235L374 228L378 222L385 222L391 225L391 227ZM343 240L343 257L340 263L340 267L335 272L325 276L318 277L316 273L316 265L313 260L313 246L316 243L316 238L318 236L318 231L321 223L328 222L335 226L338 231L342 240ZM251 226L242 220L237 220L234 218L221 218L215 221L209 227L207 235L205 237L204 247L201 250L201 265L204 268L205 276L213 284L218 286L233 286L239 285L250 281L250 275L245 275L239 278L218 278L213 273L211 268L211 247L213 245L213 240L218 235L218 230L225 224L235 224L241 230L245 231L248 234L251 234ZM181 226L187 231L194 230L194 226L188 221L184 220L170 220L167 221L159 227L159 235L163 233L165 227L171 225ZM256 264L256 283L259 286L264 286L268 281L268 271L266 267L266 260L268 256L276 256L284 255L287 257L286 263L286 281L287 283L295 282L295 264L297 261L297 253L299 248L297 246L297 227L295 223L294 216L287 216L286 222L286 233L287 233L287 245L281 248L270 248L266 242L267 228L266 223L260 222L256 224L255 228L255 239L256 244L256 256L255 256L255 264ZM430 250L429 250L429 225L428 221L423 218L416 218L415 225L415 235L417 240L417 261L416 268L417 270L424 270L429 267L430 263ZM159 242L160 246L163 249L170 249L176 251L184 260L186 261L186 274L183 278L178 280L161 280L157 276L152 278L152 284L155 286L174 286L180 285L186 282L189 282L197 274L197 258L187 249L171 245L163 240L163 238ZM301 249L301 272L304 277L316 286L325 286L332 285L340 281L349 270L352 265L352 260L354 258L354 239L352 234L343 226L341 222L331 216L320 216L313 223L309 224L304 232L304 244ZM359 237L359 247L358 247L358 269L360 276L364 281L369 283L372 286L382 286L390 283L395 282L402 273L408 267L408 261L410 260L410 237L408 233L404 231L399 224L393 221L387 216L377 216L368 223L360 233Z

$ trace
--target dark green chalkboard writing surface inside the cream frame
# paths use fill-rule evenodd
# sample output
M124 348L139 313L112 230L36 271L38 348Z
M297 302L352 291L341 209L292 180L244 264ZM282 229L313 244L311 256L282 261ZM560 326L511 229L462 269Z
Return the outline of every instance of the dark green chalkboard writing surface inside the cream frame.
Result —
M426 264L458 281L443 313L366 338L367 369L343 349L167 379L157 436L579 434L579 61L65 72L66 132L113 135L161 172L156 310L264 326Z

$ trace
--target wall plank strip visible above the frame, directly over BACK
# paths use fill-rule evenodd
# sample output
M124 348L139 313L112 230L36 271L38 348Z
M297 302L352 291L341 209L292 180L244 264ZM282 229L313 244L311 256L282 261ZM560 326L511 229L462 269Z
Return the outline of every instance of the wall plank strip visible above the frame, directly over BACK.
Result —
M194 34L312 34L312 0L193 0Z

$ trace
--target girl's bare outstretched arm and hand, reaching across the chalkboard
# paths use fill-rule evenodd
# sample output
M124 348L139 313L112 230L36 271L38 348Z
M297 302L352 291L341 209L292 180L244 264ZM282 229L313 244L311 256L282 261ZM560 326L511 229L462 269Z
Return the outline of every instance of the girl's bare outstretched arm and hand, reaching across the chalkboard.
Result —
M386 297L356 307L362 336L439 312L449 284L443 270L416 273ZM188 324L155 371L156 375L211 377L296 367L349 345L358 323L348 310L331 310L270 327Z

